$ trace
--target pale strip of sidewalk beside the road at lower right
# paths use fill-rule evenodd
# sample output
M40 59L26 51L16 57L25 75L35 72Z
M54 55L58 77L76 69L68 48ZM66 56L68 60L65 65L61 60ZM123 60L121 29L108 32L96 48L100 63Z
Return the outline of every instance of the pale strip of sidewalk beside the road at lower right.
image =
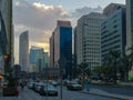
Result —
M133 97L122 96L122 94L115 94L110 93L100 89L90 89L90 91L86 91L85 89L81 91L82 93L89 93L89 94L98 94L102 97L109 97L114 99L121 99L121 100L133 100Z

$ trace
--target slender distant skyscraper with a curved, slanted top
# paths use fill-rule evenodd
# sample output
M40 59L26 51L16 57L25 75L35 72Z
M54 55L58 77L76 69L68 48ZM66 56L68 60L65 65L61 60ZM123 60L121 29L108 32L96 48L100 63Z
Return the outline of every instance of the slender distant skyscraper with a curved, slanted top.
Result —
M19 39L19 64L22 71L28 71L29 67L29 32L24 31Z

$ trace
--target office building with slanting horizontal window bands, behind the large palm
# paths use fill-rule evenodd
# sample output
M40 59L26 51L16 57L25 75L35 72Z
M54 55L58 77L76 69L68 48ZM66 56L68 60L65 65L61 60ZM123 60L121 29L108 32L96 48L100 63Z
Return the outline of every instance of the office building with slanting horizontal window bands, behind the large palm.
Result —
M111 3L103 10L103 14L106 16L106 18L101 24L102 62L110 50L119 51L121 56L123 56L126 44L125 6Z

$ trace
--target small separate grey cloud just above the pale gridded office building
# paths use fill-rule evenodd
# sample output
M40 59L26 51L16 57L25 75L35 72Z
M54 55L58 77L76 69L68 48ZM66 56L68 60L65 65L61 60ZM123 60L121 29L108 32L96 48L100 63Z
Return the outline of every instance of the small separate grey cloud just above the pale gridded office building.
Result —
M91 7L83 7L75 9L73 12L71 12L72 17L80 18L83 14L89 14L90 12L102 12L102 7L98 6L96 8Z

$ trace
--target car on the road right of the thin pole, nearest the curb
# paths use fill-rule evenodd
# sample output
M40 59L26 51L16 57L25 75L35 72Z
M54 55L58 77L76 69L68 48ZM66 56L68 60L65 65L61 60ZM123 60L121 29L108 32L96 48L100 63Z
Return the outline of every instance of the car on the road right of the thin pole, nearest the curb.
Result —
M83 89L82 84L78 83L76 81L71 81L70 83L68 83L66 88L69 90L82 90Z

